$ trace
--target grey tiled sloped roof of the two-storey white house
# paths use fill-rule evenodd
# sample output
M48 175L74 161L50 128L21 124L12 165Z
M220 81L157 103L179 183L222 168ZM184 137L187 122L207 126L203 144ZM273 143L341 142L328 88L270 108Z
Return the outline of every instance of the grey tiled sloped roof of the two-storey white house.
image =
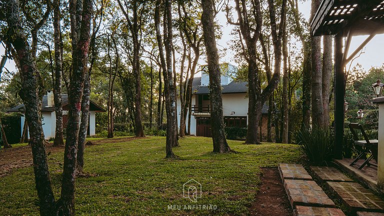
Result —
M195 94L209 93L208 86L201 86L201 77L194 77L192 82L192 92ZM221 85L221 93L245 93L248 91L248 82L231 81L227 85Z

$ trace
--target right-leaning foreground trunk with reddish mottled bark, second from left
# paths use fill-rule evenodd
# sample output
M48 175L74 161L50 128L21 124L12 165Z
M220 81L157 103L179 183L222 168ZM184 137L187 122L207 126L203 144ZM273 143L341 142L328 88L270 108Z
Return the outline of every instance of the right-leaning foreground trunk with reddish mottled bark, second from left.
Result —
M72 74L69 83L68 123L64 149L64 165L62 172L61 196L56 204L55 214L74 215L74 183L77 161L78 133L80 128L81 98L83 94L85 73L87 71L88 46L90 39L90 19L92 15L92 1L84 0L80 34L77 38L75 53L72 53ZM71 5L74 8L73 4ZM78 7L76 5L75 7ZM70 9L71 17L74 17ZM78 15L76 10L76 15ZM71 20L71 23L74 23ZM78 28L78 26L72 26ZM72 38L73 39L73 38Z

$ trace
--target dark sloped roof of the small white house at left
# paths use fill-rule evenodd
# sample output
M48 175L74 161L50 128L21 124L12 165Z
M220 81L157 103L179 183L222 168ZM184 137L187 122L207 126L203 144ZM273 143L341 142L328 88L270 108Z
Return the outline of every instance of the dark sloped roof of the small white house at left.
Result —
M68 94L61 94L61 104L62 106L66 106L68 104ZM97 111L97 112L105 112L105 110L97 105L96 103L89 100L89 110L90 111ZM24 112L25 111L25 105L24 104L18 104L10 109L7 110L8 112ZM41 101L41 111L54 111L54 106L48 106L48 97L47 95L42 96Z

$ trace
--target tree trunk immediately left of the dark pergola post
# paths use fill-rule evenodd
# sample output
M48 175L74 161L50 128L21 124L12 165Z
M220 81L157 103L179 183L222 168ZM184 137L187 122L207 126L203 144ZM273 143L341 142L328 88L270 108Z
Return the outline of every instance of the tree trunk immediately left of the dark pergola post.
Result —
M329 126L329 95L332 77L332 36L323 36L322 53L322 107L324 111L324 126Z

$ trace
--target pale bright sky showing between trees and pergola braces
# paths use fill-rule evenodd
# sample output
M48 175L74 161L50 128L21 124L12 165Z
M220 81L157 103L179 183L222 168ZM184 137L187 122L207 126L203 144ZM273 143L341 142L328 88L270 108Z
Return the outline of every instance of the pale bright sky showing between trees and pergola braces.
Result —
M310 14L310 0L301 2L299 5L299 11L303 14L306 19L309 19ZM216 20L221 24L222 28L222 37L217 40L217 48L222 49L223 47L229 47L230 40L232 35L230 35L233 25L227 24L225 13L220 11ZM366 38L367 36L355 36L352 38L349 53L353 52L355 48ZM362 53L357 59L352 62L352 67L356 63L361 64L362 69L368 70L372 66L381 66L384 62L384 34L376 35L364 48L364 53ZM0 55L4 53L4 48L0 46ZM233 56L234 52L229 48L226 50L225 54L220 58L220 62L228 62L233 65L236 65L234 62ZM204 58L201 57L199 64L204 64ZM347 65L349 66L349 65ZM14 62L12 60L7 60L5 67L10 71L15 71Z

